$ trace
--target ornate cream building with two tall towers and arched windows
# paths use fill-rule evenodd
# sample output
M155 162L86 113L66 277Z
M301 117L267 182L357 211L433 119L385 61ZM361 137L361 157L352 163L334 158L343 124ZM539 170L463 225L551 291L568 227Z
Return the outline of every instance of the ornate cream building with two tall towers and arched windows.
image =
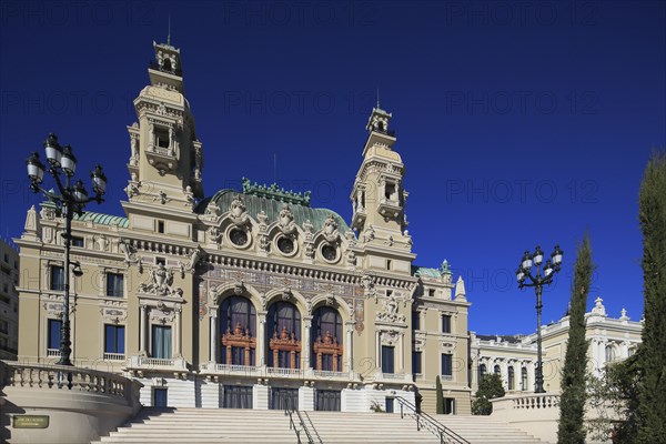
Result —
M72 222L74 364L137 379L144 405L198 407L367 412L403 396L432 413L441 375L447 410L468 413L471 304L446 263L413 265L392 115L377 105L367 122L350 225L249 180L206 196L180 50L153 46L125 215ZM17 240L21 360L58 359L62 230L46 202Z

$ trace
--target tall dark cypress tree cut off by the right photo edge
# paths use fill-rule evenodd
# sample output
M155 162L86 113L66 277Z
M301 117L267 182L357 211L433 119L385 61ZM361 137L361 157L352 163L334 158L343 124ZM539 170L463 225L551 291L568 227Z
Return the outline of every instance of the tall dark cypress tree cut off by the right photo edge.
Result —
M640 184L645 323L637 352L640 372L636 442L666 443L666 154L655 153Z

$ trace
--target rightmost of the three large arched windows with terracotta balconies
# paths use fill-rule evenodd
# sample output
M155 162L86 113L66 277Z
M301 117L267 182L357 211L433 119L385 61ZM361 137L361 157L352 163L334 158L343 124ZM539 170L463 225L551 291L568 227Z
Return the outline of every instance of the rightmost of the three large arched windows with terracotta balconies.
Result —
M312 316L313 369L342 372L342 316L335 309L320 306Z

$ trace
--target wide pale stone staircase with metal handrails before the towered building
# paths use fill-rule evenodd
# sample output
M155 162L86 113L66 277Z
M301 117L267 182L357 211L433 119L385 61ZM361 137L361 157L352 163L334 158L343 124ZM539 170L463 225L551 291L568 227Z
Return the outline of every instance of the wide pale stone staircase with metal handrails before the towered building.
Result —
M438 443L413 418L398 413L301 412L315 444ZM299 422L293 415L294 422ZM472 444L539 443L511 426L484 416L437 415L436 420ZM310 424L314 425L315 432ZM320 441L321 440L321 441ZM307 443L304 432L301 441ZM296 443L283 411L233 408L144 408L131 423L99 443Z

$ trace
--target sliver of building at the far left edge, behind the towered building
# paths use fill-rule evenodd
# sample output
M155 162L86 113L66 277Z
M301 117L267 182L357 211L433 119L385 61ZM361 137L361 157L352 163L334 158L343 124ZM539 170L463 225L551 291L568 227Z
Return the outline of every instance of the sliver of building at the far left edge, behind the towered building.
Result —
M0 239L0 359L19 349L19 252Z

